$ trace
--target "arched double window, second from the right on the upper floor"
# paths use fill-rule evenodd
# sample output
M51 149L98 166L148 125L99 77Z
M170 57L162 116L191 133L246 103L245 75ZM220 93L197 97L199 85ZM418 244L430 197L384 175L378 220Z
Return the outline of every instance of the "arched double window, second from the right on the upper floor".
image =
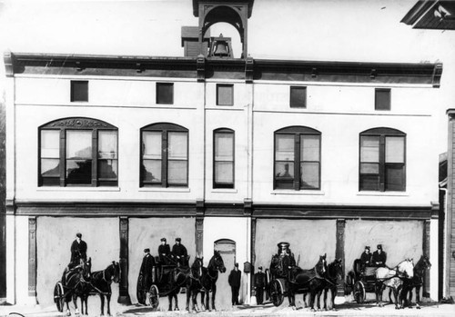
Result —
M275 189L320 189L320 132L290 126L275 132Z

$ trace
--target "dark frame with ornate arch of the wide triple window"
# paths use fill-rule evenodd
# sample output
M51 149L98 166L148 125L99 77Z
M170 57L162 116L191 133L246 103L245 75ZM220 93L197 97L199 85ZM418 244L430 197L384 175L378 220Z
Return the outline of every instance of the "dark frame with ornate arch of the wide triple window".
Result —
M58 183L50 184L45 183L44 180L46 177L42 175L42 131L58 131L59 132L59 176ZM66 144L67 137L66 132L68 131L91 131L91 146L92 146L92 156L91 156L91 182L90 183L68 183L66 176ZM103 161L103 158L98 157L98 148L99 148L99 132L100 131L115 131L116 132L116 178L103 178L100 177L98 171L98 163ZM118 186L118 128L112 124L107 124L101 120L86 118L86 117L71 117L65 119L58 119L56 121L43 124L38 127L38 187L116 187ZM56 178L56 177L54 177Z

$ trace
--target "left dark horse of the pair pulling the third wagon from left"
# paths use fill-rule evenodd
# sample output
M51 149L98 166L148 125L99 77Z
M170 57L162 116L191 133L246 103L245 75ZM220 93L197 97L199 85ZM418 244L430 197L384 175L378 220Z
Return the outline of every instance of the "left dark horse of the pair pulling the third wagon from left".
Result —
M305 302L305 297L307 293L309 293L309 306L311 307L311 311L315 312L314 303L316 295L318 294L320 296L320 293L324 290L324 287L326 285L326 258L326 254L319 255L318 263L316 263L316 265L309 270L300 269L298 266L292 269L291 278L288 281L288 299L290 306L296 306L296 292L303 293L303 302Z

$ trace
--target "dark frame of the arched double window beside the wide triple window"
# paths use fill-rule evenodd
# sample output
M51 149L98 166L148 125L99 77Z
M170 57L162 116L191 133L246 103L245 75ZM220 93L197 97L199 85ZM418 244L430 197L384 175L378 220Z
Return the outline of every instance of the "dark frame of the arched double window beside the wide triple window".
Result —
M144 162L144 132L158 132L161 133L161 182L160 183L151 183L146 182L143 176L143 162ZM169 183L168 182L168 140L169 140L169 133L185 133L187 134L187 182L186 183ZM157 124L148 124L144 126L140 130L140 141L139 144L140 148L140 156L139 156L139 187L147 188L147 187L188 187L189 185L189 131L187 128L178 125L178 124L170 124L170 123L157 123Z

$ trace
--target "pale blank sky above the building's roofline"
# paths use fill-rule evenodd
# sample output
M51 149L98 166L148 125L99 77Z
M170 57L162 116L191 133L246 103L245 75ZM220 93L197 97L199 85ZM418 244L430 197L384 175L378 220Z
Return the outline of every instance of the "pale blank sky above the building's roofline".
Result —
M254 58L444 63L440 98L455 108L455 31L399 21L417 0L256 0L248 19ZM181 26L198 24L192 0L0 0L0 51L183 56ZM231 25L211 35L239 37ZM0 89L5 82L0 62ZM449 84L446 84L449 83ZM447 125L446 125L447 126ZM441 145L441 147L443 147Z

